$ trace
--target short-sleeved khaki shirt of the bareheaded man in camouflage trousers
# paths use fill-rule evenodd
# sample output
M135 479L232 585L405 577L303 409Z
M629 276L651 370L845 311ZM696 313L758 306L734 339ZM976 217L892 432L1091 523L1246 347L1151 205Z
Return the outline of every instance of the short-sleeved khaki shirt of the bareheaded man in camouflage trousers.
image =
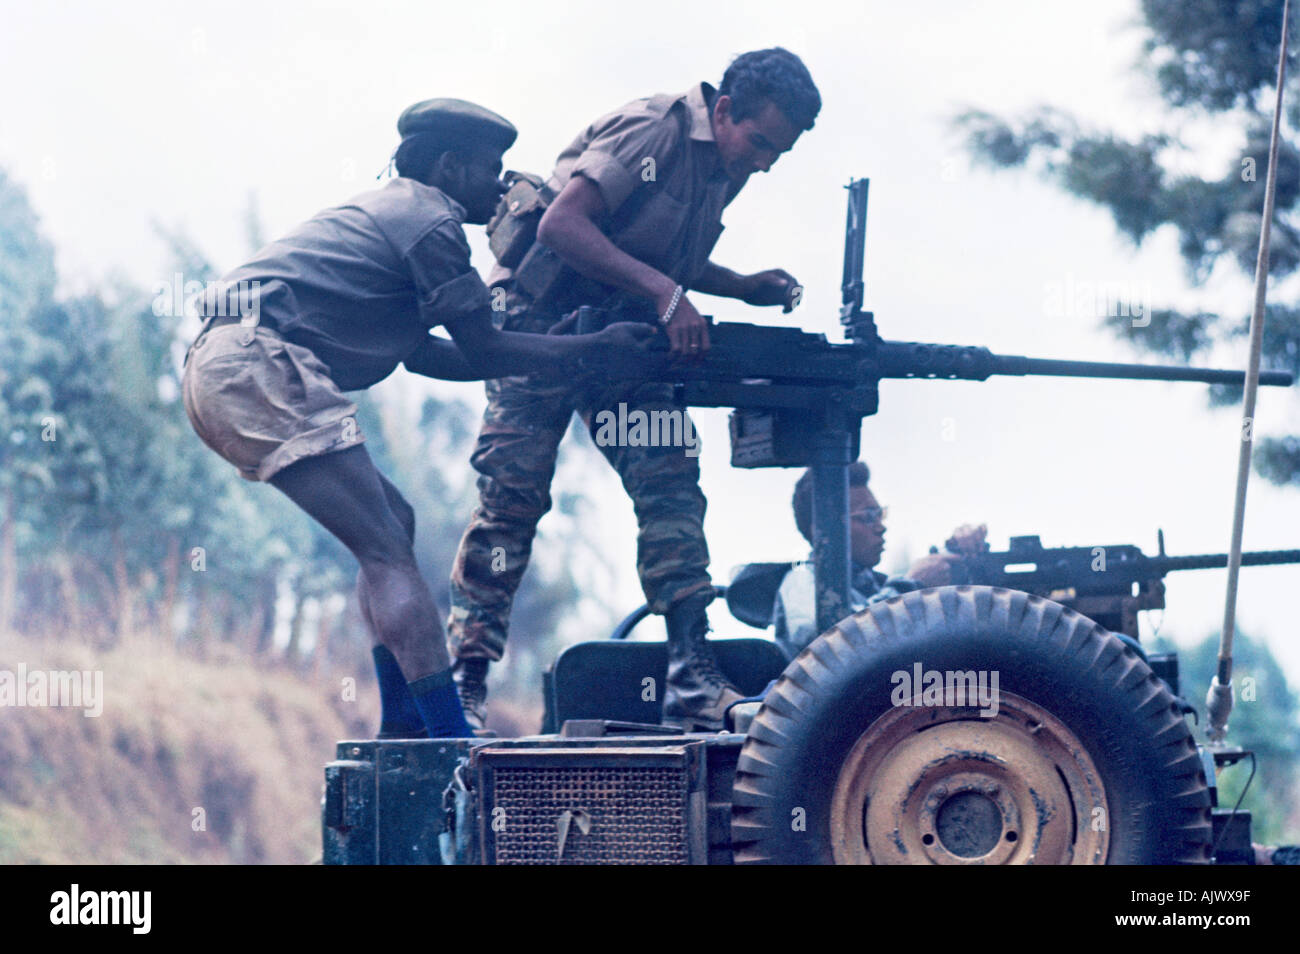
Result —
M716 92L699 83L677 94L628 103L584 129L559 155L549 186L559 194L573 175L601 191L602 231L633 259L686 286L699 278L723 233L723 209L738 187L727 177L710 114ZM566 304L595 304L607 286L567 273ZM597 291L598 294L598 291Z

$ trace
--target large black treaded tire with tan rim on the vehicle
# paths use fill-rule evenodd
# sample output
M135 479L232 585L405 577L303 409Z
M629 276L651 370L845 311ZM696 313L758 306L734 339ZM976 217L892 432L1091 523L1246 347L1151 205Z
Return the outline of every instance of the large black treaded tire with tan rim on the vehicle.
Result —
M737 863L1208 863L1210 832L1165 684L1092 620L989 586L907 593L815 639L733 789Z

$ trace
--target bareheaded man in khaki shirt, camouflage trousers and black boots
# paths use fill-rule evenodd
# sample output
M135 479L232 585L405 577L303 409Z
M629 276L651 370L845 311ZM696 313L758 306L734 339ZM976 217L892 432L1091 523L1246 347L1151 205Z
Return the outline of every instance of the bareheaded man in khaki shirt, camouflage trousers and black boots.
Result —
M688 290L789 312L798 298L790 274L741 276L708 255L727 204L754 172L767 172L811 129L819 109L800 58L763 49L737 57L716 91L699 83L598 118L556 161L546 183L555 198L537 243L514 272L494 276L504 292L504 328L545 331L580 305L618 303L653 311L672 351L692 356L708 348L708 334ZM480 506L452 565L448 617L462 702L480 725L488 664L504 651L511 602L537 521L550 509L556 452L573 412L593 438L601 411L616 413L621 403L685 415L668 386L653 383L582 390L512 377L489 382L488 399L471 458L481 474ZM641 585L651 610L666 616L664 719L718 729L740 694L718 672L705 638L712 582L697 458L680 446L602 439L597 446L633 500Z

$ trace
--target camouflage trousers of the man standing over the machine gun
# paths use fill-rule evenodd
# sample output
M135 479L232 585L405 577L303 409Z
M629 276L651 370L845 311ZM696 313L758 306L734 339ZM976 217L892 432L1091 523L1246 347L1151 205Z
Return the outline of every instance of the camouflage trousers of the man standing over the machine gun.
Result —
M511 330L542 330L507 321ZM619 406L624 407L620 408ZM500 659L511 603L532 554L537 521L551 507L550 486L560 439L575 411L619 473L637 515L637 573L651 611L712 590L705 543L705 495L699 490L699 445L634 446L616 420L654 420L668 412L682 428L685 409L668 385L580 389L532 377L488 382L488 409L471 464L478 472L478 507L451 569L447 636L460 659ZM608 413L604 413L608 411ZM620 419L621 415L621 419Z

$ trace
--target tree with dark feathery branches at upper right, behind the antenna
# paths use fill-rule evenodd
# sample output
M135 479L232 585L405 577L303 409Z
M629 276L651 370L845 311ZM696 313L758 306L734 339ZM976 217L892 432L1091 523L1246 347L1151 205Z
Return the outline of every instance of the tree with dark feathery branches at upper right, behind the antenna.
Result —
M1071 116L1040 107L1017 120L979 109L956 123L976 160L992 168L1032 166L1061 188L1108 209L1134 244L1158 229L1178 234L1179 252L1193 286L1221 263L1253 274L1269 157L1273 83L1282 0L1143 0L1145 57L1136 66L1150 77L1169 108L1169 129L1139 139L1083 127ZM1300 126L1296 25L1291 19L1287 118ZM1184 169L1188 147L1176 129L1210 116L1219 142L1236 140L1235 155L1217 175ZM1300 268L1300 148L1284 136L1278 149L1275 221L1269 255L1274 278ZM1109 317L1112 331L1143 351L1187 361L1216 343L1240 338L1240 316L1154 309L1141 325L1126 308ZM1264 365L1300 376L1300 303L1269 305ZM1242 389L1214 386L1212 404L1240 402ZM1300 435L1258 439L1257 471L1275 483L1300 485Z

